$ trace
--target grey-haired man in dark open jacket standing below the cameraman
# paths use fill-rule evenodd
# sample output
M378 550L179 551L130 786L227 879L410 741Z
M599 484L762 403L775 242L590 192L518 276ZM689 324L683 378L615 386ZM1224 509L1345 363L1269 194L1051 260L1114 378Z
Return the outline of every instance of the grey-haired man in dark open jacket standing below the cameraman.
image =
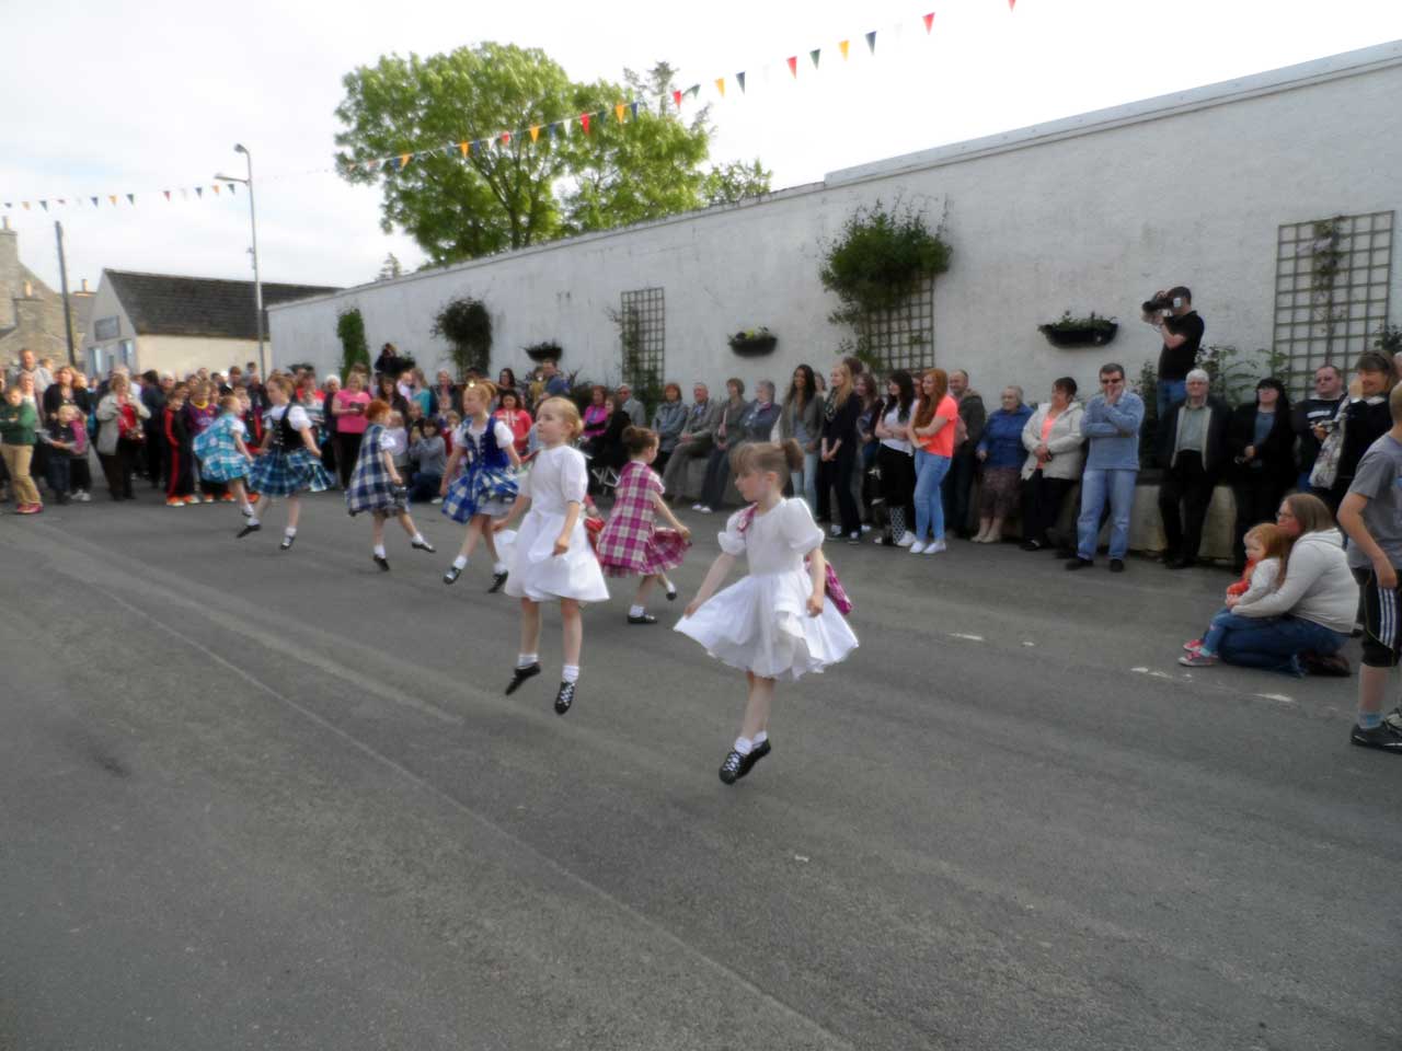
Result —
M1186 569L1197 561L1203 521L1227 458L1227 418L1221 398L1207 394L1209 376L1193 369L1187 397L1169 406L1158 423L1158 513L1164 517L1164 565Z

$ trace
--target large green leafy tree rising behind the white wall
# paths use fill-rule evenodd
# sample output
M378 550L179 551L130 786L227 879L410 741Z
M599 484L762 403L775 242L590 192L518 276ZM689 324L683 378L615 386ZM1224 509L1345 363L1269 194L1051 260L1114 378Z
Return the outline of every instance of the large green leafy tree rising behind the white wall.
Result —
M430 263L443 265L566 234L732 200L768 189L754 161L716 171L708 111L690 122L665 114L673 70L624 71L624 83L571 81L538 49L485 42L446 55L386 55L348 73L336 108L343 130L336 167L355 184L381 185L380 224L405 230ZM656 99L656 108L646 99ZM614 107L638 101L625 122ZM585 135L578 115L607 111ZM564 122L559 135L548 126ZM503 130L538 126L540 139ZM463 157L457 143L491 140ZM421 151L400 171L369 171L366 161Z

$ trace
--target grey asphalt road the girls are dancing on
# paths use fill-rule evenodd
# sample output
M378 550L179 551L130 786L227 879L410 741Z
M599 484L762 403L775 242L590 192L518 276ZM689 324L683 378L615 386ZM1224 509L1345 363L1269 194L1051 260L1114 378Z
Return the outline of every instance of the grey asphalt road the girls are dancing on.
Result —
M861 649L725 788L740 675L625 584L566 717L550 612L505 698L422 518L388 575L335 493L289 554L0 518L0 1048L1402 1044L1402 762L1352 680L1173 663L1225 573L838 545Z

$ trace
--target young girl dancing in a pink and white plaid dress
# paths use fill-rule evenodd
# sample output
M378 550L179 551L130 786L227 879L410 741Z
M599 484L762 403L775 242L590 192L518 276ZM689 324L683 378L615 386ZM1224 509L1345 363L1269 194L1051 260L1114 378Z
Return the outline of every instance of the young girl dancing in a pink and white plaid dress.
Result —
M662 479L652 469L658 458L658 432L627 427L622 444L628 450L628 462L618 475L608 524L599 534L599 565L608 576L642 577L638 594L628 607L628 624L656 624L658 618L648 612L648 591L659 583L669 601L677 597L667 570L681 565L691 530L677 521L662 499ZM659 530L655 524L658 514L672 528Z

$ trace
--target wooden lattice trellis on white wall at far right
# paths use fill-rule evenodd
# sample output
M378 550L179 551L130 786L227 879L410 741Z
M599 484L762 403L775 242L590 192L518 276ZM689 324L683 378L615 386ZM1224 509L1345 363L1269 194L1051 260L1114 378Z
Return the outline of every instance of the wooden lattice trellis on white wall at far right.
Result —
M1273 349L1297 391L1326 362L1347 370L1387 324L1394 217L1374 212L1280 227Z

